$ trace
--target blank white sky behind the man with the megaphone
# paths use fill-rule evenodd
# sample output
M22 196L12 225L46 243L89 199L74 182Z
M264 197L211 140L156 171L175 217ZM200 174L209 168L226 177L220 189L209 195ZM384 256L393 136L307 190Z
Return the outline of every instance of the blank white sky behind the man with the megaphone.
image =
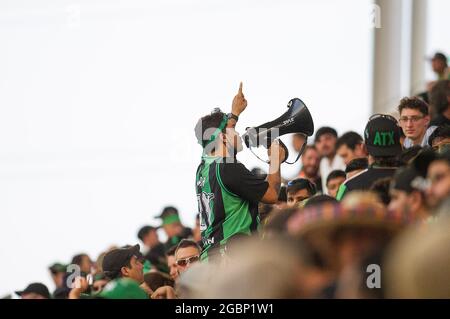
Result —
M48 265L136 243L165 205L192 225L193 127L241 80L241 132L293 97L361 132L370 19L361 0L0 1L0 296L53 289Z

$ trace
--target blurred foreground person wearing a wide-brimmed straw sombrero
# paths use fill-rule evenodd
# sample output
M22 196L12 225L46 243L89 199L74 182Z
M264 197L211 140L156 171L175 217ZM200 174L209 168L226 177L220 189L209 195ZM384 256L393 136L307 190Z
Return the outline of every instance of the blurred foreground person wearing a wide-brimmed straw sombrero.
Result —
M299 210L287 224L289 234L310 245L336 274L329 289L334 298L378 298L382 289L367 289L367 267L407 220L390 214L374 194L353 192L339 204Z

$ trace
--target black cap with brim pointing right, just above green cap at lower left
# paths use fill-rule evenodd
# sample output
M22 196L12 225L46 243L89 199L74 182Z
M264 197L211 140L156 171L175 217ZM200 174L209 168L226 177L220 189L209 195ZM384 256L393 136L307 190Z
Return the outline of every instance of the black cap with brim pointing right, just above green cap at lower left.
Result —
M102 268L104 274L109 278L117 277L122 267L127 266L133 256L142 258L139 244L109 251L103 258Z

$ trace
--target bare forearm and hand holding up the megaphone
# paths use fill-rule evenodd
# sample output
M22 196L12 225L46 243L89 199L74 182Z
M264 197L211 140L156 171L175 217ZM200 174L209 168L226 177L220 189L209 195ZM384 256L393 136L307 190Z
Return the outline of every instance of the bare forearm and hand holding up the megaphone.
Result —
M286 153L284 148L280 146L278 140L273 141L268 152L270 164L267 182L269 183L269 187L261 199L261 202L265 204L275 204L278 201L278 193L280 192L281 186L280 166L286 156Z

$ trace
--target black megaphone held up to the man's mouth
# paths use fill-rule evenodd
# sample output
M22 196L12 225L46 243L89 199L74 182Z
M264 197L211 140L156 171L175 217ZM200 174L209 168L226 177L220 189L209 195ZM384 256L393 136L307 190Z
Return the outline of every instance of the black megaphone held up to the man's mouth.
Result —
M285 134L296 134L297 138L300 138L302 142L300 151L294 161L287 161L289 152L286 145L280 140L280 145L283 146L286 151L286 157L283 162L294 164L303 153L308 136L312 136L314 133L314 122L311 113L302 100L294 98L289 101L287 107L288 110L277 119L256 127L248 127L245 134L242 136L245 145L261 161L268 163L267 160L263 160L253 151L254 148L262 146L265 149L269 149L272 142L280 136Z

